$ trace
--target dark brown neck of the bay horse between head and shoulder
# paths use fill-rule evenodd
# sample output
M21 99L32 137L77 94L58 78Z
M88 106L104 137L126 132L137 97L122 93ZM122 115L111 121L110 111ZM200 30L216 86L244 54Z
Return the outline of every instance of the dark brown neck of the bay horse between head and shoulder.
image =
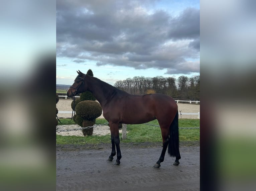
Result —
M112 90L113 87L111 85L108 86L108 84L106 84L106 86L102 86L101 84L102 82L99 79L89 77L88 90L92 92L103 107L108 101L108 97L105 93Z

